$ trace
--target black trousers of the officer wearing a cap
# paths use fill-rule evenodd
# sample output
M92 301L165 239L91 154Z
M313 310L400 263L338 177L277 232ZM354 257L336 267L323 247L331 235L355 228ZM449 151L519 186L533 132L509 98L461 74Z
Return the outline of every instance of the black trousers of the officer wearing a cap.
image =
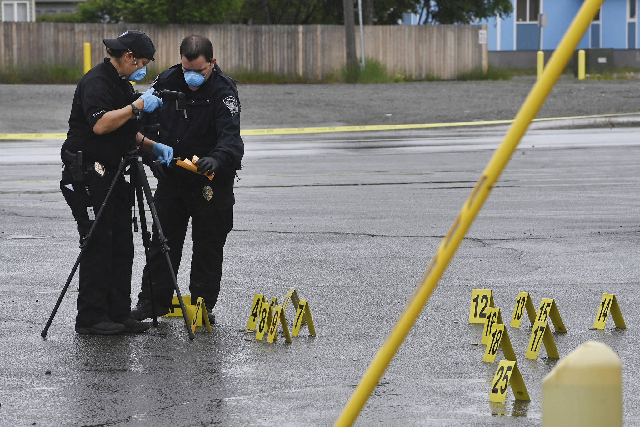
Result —
M98 214L113 175L105 173L100 177L90 171L85 181L76 182L63 172L60 189L77 222L80 241L93 225L87 207L93 207L94 214ZM65 187L68 184L72 189ZM124 177L120 177L80 259L76 326L129 318L132 266L131 190Z

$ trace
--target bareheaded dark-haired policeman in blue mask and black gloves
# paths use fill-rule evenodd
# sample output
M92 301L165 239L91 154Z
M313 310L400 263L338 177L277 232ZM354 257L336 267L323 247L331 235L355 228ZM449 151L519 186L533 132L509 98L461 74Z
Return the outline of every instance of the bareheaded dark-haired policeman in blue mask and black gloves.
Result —
M180 58L182 63L162 72L152 85L156 90L184 92L187 100L186 117L184 111L176 111L169 103L157 109L162 125L160 140L173 147L176 157L198 156L199 173L155 163L152 170L158 184L154 201L176 274L191 218L191 301L195 303L202 296L213 323L212 309L220 293L223 247L233 227L234 177L244 154L240 102L236 81L223 74L216 64L208 38L186 37L180 44ZM206 172L214 173L213 181L201 175ZM143 271L138 304L131 310L135 319L152 316L147 277L154 286L156 315L168 313L172 303L172 278L155 233L149 260Z

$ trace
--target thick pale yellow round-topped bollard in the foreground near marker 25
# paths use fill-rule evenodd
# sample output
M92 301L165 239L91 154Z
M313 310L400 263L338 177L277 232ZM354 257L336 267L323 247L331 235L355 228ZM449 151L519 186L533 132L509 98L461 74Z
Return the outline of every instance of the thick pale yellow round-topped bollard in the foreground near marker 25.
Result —
M587 341L545 376L542 425L622 426L622 363L611 347Z

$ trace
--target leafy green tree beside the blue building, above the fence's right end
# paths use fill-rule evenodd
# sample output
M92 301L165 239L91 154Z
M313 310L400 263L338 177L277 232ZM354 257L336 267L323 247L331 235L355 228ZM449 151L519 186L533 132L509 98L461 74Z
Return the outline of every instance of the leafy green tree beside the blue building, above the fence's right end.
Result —
M423 24L470 24L478 19L513 13L511 0L424 0L419 21Z

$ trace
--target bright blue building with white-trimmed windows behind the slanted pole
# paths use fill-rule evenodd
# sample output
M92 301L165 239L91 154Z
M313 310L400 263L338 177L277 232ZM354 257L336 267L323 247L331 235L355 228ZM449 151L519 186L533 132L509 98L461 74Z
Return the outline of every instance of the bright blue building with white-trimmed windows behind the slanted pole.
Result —
M582 0L511 0L513 13L504 19L492 18L488 27L490 51L556 49ZM578 49L610 47L637 49L639 0L605 0L589 26ZM547 15L547 26L538 27L538 14ZM541 42L541 45L540 45Z

